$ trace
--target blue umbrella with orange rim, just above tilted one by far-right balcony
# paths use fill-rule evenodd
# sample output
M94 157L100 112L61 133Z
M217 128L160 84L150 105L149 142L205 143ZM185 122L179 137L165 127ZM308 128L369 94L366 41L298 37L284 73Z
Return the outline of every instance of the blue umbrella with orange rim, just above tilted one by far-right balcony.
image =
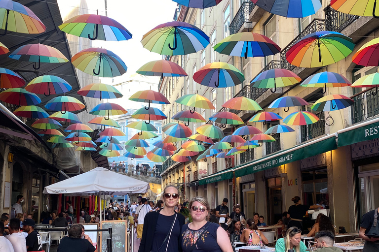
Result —
M306 78L300 86L308 88L324 88L323 94L326 93L326 88L340 88L350 86L348 79L339 73L321 72L316 73Z

